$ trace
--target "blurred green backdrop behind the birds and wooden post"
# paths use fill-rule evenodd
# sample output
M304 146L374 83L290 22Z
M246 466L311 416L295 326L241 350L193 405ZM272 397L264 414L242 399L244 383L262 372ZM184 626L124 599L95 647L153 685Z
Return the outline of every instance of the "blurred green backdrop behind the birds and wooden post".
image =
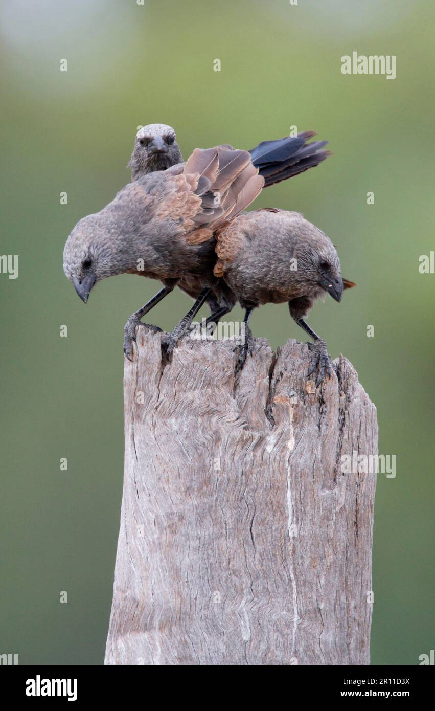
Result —
M377 484L372 663L418 664L434 648L435 277L418 269L434 248L430 8L429 0L1 3L0 253L19 255L19 277L0 274L0 653L18 653L21 664L104 658L122 496L123 326L159 284L109 279L85 308L62 252L77 220L129 181L136 127L151 122L176 129L185 157L221 142L249 149L291 125L329 139L326 164L268 188L252 207L304 213L358 283L339 306L318 304L310 323L334 358L355 365L377 406L380 452L397 455L396 479L380 474ZM397 78L342 75L340 58L353 50L397 55ZM171 329L190 304L178 292L152 321ZM257 311L252 326L274 347L305 340L285 305Z

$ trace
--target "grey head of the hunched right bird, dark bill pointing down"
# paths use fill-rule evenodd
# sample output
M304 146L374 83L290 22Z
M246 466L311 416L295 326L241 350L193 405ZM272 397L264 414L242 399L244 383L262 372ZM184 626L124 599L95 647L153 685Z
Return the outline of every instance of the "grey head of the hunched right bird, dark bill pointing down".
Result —
M311 231L310 238L296 249L297 269L313 289L329 294L335 301L343 296L340 260L331 240L320 230Z

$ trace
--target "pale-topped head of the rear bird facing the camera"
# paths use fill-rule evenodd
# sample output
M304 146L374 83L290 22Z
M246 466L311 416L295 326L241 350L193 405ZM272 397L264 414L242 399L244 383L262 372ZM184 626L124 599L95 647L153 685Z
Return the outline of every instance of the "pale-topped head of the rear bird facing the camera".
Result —
M176 132L166 124L149 124L136 134L129 166L137 176L165 171L183 160Z

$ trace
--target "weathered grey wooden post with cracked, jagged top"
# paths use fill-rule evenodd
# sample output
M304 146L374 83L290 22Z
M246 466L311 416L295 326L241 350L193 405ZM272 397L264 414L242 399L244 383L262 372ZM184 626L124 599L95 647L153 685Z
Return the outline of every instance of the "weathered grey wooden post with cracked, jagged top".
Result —
M125 466L106 664L368 664L377 421L348 360L185 338L125 361Z

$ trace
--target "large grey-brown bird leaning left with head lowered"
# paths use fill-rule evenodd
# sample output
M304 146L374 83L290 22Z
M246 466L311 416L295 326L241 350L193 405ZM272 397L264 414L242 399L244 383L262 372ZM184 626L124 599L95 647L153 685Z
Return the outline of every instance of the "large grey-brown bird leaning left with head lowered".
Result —
M95 284L117 274L140 274L163 283L152 303L127 321L127 358L131 359L139 314L143 316L176 285L196 299L196 311L213 289L225 302L230 289L213 275L213 233L245 210L263 185L248 151L227 146L195 149L185 164L147 173L122 188L99 213L75 225L65 244L63 269L85 303ZM231 294L229 299L234 302ZM169 358L183 335L181 326L174 331L168 341Z

